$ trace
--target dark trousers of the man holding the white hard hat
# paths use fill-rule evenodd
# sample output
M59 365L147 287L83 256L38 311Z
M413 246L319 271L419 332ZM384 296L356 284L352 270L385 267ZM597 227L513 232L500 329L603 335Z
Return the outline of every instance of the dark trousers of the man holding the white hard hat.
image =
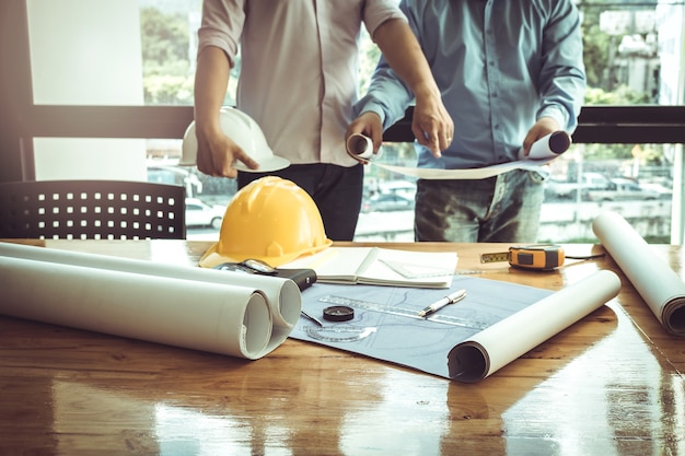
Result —
M237 188L264 176L292 180L306 191L318 208L326 236L332 241L352 241L363 190L362 164L351 167L327 163L290 165L272 173L237 173Z

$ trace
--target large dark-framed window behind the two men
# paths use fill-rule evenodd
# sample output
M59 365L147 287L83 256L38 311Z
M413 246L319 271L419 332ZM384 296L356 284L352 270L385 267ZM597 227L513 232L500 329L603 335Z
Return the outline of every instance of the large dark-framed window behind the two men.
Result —
M642 233L648 238L682 243L685 3L596 0L578 5L583 14L590 90L576 144L555 163L550 187L553 182L582 185L585 174L595 173L603 179L629 178L645 191L660 191L661 197L600 202L577 188L576 198L565 200L550 188L543 225L568 229L553 230L544 241L592 239L581 215L614 204L609 207L640 214L645 225L653 229L653 233ZM5 0L0 8L2 33L12 37L3 35L2 42L13 43L11 50L5 46L0 51L9 56L3 61L18 62L2 70L3 78L9 74L14 82L4 92L11 103L3 109L12 110L3 118L16 118L2 130L3 149L11 151L0 172L2 178L116 174L173 179L185 185L190 197L210 206L228 202L234 183L175 166L179 131L193 117L201 0ZM21 28L24 16L27 31ZM26 43L22 36L28 37ZM362 92L378 56L365 39ZM30 70L22 73L23 68ZM240 66L234 69L227 104L234 101L239 70ZM22 92L26 80L30 89ZM21 116L15 115L16 106ZM410 139L407 125L398 125L384 145L385 160L413 165L414 152L406 142ZM393 192L381 184L405 180L370 167L367 189L369 195ZM410 210L406 213L411 217ZM579 215L560 219L571 213ZM360 224L378 226L361 219ZM413 238L410 219L393 224L406 226L406 232L391 238ZM388 238L379 230L364 232L360 239L374 236Z

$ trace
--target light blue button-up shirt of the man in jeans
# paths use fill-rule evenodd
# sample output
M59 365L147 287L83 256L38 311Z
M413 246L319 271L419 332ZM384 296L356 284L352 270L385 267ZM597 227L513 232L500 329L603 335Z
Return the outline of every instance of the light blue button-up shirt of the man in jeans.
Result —
M474 168L516 160L543 116L571 133L583 102L580 17L571 0L402 0L443 103L454 141L436 159L416 143L418 166ZM381 58L355 114L372 110L384 128L414 95Z

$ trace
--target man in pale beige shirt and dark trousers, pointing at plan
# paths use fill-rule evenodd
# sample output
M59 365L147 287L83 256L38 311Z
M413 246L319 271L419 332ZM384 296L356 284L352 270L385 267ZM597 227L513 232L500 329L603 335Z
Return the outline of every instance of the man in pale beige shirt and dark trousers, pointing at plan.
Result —
M358 100L358 38L364 25L416 96L413 130L433 154L452 139L421 49L394 0L205 0L195 81L199 171L237 177L239 187L264 176L237 172L256 163L221 131L219 109L229 71L242 54L237 108L262 127L276 155L291 166L269 173L306 190L334 241L355 235L363 166L345 150Z

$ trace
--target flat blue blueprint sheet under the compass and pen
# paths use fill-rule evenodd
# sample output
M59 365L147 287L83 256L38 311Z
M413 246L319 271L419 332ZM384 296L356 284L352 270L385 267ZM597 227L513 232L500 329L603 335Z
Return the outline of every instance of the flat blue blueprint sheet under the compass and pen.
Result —
M443 307L429 319L415 316L460 289L467 293L463 301ZM302 292L302 309L324 327L301 317L290 337L449 378L448 353L452 348L550 294L549 290L467 276L455 276L450 290L314 283ZM337 297L359 303L337 303ZM323 309L332 305L355 308L355 318L325 320ZM391 313L394 311L399 315ZM436 321L439 319L442 321Z

